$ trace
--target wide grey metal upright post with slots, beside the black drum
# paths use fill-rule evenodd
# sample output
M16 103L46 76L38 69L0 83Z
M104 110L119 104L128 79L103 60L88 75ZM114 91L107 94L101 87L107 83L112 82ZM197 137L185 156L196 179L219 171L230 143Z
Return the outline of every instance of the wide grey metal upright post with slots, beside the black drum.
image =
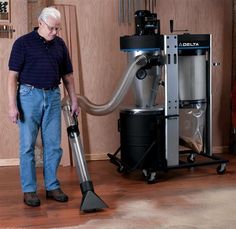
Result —
M179 102L177 35L164 35L165 148L167 165L179 164Z

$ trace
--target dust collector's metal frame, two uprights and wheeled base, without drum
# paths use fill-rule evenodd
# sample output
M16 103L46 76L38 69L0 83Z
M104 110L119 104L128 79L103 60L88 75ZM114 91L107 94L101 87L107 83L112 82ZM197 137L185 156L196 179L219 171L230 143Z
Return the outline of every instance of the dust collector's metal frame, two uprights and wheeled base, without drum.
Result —
M204 133L204 148L203 153L197 153L192 150L179 151L179 86L178 86L178 35L163 35L163 55L165 58L165 160L166 167L158 168L160 171L168 171L169 169L190 168L197 166L206 166L218 164L217 173L224 174L226 164L229 162L226 159L213 155L212 152L212 35L209 34L210 46L207 50L207 74L206 74L206 125ZM191 47L190 47L191 48ZM150 146L151 147L151 146ZM118 166L119 172L131 172L138 168L148 154L140 158L133 168L129 168L116 155L120 148L112 155L108 154L110 161ZM184 154L185 160L182 160ZM195 158L200 157L200 160ZM163 162L164 163L164 162ZM159 171L157 169L157 172ZM155 172L154 172L155 173ZM154 182L153 172L146 176L149 183Z

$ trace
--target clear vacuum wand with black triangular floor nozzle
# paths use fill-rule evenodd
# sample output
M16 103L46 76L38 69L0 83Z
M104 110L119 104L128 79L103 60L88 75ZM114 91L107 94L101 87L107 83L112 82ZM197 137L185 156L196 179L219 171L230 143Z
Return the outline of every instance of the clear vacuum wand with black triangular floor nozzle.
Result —
M84 156L83 145L80 139L78 120L76 116L71 115L69 101L67 104L63 104L62 110L66 121L70 146L75 159L76 171L80 179L80 189L82 192L80 210L89 212L107 208L108 206L94 192L93 183L90 179Z

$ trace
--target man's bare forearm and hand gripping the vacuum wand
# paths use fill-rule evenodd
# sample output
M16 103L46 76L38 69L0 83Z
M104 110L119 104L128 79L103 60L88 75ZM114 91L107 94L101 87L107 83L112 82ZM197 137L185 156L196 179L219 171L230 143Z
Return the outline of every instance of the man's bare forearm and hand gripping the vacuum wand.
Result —
M63 83L65 85L65 88L69 94L70 100L71 100L71 113L72 115L78 115L79 114L79 105L77 101L77 96L75 94L75 83L74 83L74 77L72 74L68 74L64 77L62 77Z

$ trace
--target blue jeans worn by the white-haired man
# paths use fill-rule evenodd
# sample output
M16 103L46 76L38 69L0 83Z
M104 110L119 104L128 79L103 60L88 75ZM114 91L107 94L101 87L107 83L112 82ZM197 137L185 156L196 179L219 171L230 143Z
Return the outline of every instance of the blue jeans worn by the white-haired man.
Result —
M39 128L43 144L45 189L60 187L57 169L61 161L61 95L60 89L42 90L20 85L17 94L20 111L20 176L23 192L37 191L35 143Z

